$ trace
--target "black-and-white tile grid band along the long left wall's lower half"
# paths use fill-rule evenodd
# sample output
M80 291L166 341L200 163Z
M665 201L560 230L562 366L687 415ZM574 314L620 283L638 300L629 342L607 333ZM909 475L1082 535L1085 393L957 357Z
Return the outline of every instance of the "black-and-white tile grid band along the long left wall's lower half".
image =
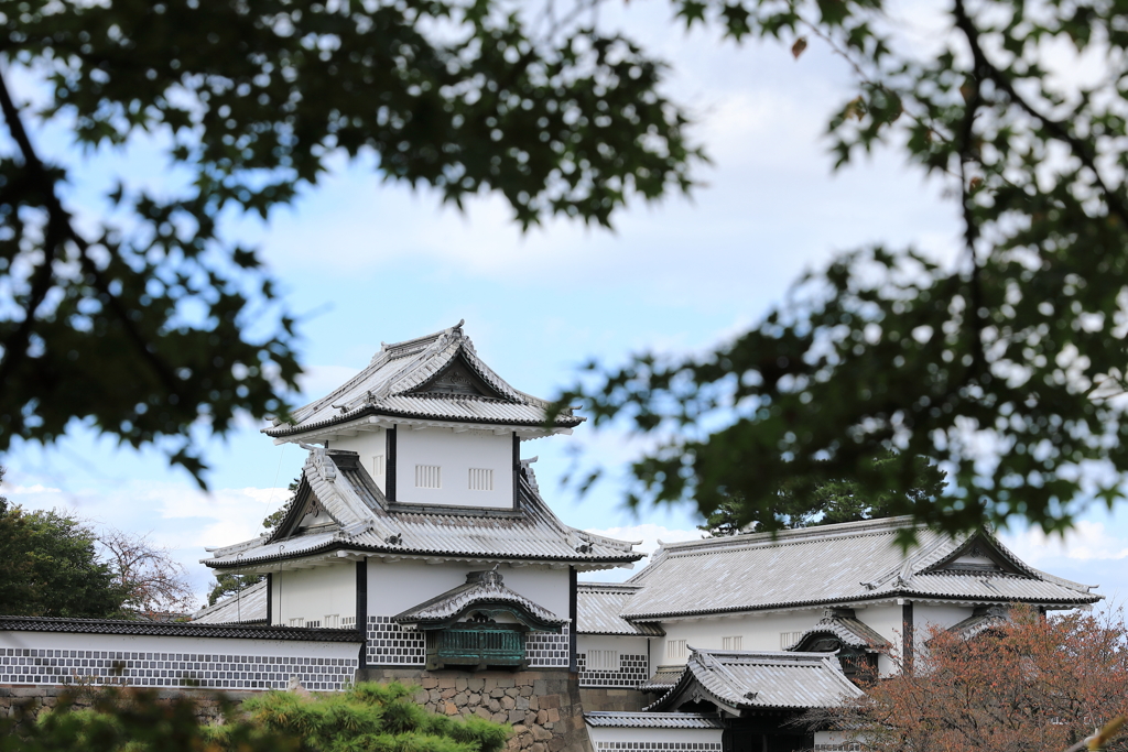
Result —
M0 648L0 684L285 689L291 676L340 691L355 679L356 658Z

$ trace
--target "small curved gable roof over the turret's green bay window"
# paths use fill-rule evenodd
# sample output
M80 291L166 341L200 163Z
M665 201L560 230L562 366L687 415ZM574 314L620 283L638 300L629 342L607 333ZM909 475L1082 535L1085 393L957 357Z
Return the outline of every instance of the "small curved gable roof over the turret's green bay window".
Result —
M466 582L429 601L391 617L391 620L413 629L447 627L472 611L513 613L526 627L541 631L558 631L567 621L520 593L505 586L502 575L494 567L488 572L472 572Z

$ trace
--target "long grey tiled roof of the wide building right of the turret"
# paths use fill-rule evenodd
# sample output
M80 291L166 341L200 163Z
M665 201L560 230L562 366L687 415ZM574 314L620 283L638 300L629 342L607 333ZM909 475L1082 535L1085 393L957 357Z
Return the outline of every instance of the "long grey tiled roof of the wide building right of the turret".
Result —
M1048 607L1093 603L1089 585L1030 567L993 534L949 538L917 529L918 546L896 546L910 517L867 520L770 533L669 543L629 582L643 585L626 619L834 605L889 598ZM975 539L973 541L971 539ZM997 570L969 569L961 551L978 546ZM985 554L986 556L986 554Z

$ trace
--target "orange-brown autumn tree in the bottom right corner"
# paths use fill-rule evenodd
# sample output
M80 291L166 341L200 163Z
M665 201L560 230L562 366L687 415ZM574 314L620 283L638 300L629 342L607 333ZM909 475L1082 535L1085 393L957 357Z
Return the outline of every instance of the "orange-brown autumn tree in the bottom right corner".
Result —
M822 720L873 752L1054 752L1128 713L1122 613L1011 616L970 639L918 635L911 671ZM1105 749L1128 751L1128 735Z

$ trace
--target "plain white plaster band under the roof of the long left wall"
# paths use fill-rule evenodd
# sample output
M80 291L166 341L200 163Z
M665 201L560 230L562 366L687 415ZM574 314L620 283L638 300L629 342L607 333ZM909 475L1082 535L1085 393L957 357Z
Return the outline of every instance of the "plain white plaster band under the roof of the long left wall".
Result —
M131 653L182 654L231 653L237 655L302 655L326 658L355 658L359 643L0 631L0 648L8 647L51 651L130 651Z

